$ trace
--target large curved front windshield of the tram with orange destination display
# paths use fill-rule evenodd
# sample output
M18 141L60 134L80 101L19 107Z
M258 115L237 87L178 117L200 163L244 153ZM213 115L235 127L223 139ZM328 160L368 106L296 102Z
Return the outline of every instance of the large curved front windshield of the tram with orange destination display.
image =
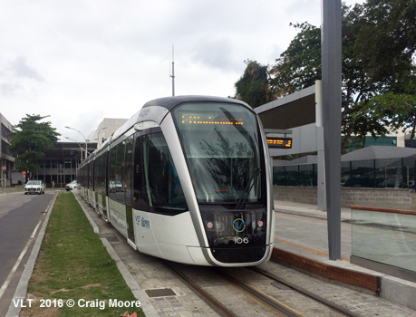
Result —
M174 118L199 203L261 198L254 113L237 104L185 103L174 110Z

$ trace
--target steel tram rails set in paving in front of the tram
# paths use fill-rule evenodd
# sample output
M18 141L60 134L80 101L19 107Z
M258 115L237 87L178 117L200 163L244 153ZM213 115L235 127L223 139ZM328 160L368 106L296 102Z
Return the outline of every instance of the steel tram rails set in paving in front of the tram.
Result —
M185 283L189 289L207 303L214 311L218 312L220 316L234 317L234 316L249 316L253 313L262 313L262 315L270 316L288 316L288 317L302 317L308 315L299 305L292 305L289 300L283 298L276 298L272 293L267 292L266 288L261 285L270 285L279 283L285 285L287 299L297 296L304 296L310 301L314 301L318 307L324 307L326 315L330 316L350 316L357 317L358 315L351 312L336 303L308 292L305 289L289 283L281 278L270 274L264 270L253 268L212 268L212 267L194 267L181 264L174 264L171 262L164 262L171 272ZM198 274L199 272L199 274ZM251 281L262 281L259 285L246 281L244 276L251 274ZM254 276L258 274L259 276ZM243 276L243 278L241 278ZM261 276L261 277L260 277ZM209 282L207 282L209 281ZM272 288L274 288L272 286ZM220 290L221 289L221 290ZM227 291L228 290L228 291ZM231 290L231 291L230 291ZM234 291L232 291L234 290ZM233 292L239 293L236 296ZM222 293L229 293L229 297L221 296ZM238 298L238 303L230 303L231 298ZM243 300L244 299L244 300ZM300 302L299 299L297 302ZM319 309L319 308L318 308ZM303 311L303 312L302 312ZM306 310L307 311L307 310Z

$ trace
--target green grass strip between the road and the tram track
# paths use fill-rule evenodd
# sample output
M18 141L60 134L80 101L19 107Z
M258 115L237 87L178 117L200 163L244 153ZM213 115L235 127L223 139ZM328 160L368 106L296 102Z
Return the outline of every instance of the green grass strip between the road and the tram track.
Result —
M140 308L110 307L115 300L137 300L71 192L56 198L27 299L33 301L30 308L23 308L21 317L120 316L124 312L144 316ZM69 300L75 303L71 308ZM87 303L92 307L81 307Z

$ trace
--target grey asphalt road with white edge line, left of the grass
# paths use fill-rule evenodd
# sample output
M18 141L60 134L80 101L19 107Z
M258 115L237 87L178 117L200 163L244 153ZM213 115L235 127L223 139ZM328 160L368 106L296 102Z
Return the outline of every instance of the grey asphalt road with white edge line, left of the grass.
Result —
M0 316L5 316L55 192L0 195Z

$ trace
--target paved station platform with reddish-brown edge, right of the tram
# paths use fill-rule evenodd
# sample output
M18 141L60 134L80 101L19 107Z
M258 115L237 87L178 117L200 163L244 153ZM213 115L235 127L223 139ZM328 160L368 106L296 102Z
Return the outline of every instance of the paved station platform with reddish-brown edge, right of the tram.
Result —
M416 310L416 283L403 280L389 274L373 271L350 263L352 255L351 209L342 208L341 260L329 260L328 235L324 211L314 205L275 200L276 210L276 262L295 267L304 273L327 279L332 283L346 285L363 292L370 292L380 297ZM306 218L307 217L307 218ZM285 219L320 224L320 233L307 230L298 225L287 228L280 225ZM312 218L312 220L311 220ZM307 220L309 219L309 220ZM313 220L315 219L315 220ZM308 226L307 224L305 225Z

